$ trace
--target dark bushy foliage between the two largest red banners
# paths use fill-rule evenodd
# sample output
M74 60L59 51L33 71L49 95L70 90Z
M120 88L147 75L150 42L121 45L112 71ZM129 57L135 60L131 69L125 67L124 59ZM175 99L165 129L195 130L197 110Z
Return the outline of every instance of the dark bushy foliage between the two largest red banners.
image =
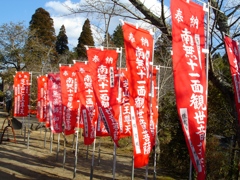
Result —
M176 103L169 93L161 100L159 119L160 166L171 169L186 178L189 169L189 155L182 127L178 118Z

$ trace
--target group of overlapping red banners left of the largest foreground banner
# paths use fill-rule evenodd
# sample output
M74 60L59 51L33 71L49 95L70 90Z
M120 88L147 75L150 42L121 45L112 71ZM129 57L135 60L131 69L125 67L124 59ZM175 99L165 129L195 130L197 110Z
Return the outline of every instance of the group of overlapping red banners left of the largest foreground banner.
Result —
M139 168L148 164L157 132L153 35L128 23L122 28L128 70L117 69L116 50L87 48L88 62L60 66L59 73L38 77L37 118L53 133L69 135L83 128L86 145L96 136L111 136L118 146L120 138L132 136L134 166ZM18 74L15 92L21 97L15 99L14 115L27 116L29 76L27 81L27 73Z

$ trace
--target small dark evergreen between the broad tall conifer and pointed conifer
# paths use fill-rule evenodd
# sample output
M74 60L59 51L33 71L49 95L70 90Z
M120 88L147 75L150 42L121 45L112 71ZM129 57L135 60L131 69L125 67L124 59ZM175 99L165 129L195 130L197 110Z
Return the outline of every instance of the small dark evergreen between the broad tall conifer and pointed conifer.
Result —
M58 54L64 54L66 51L69 50L69 47L67 44L68 44L68 37L66 35L65 26L62 25L56 41L56 50Z

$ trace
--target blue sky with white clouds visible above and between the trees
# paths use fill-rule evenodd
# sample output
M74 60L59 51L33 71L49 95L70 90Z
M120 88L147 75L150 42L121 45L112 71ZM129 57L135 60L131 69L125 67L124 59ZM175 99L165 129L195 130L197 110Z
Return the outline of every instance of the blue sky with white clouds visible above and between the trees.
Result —
M63 4L75 8L79 6L79 3L82 3L83 1L84 0L1 0L0 25L10 22L24 22L24 25L28 27L32 15L35 13L36 9L42 7L50 13L51 18L54 21L56 35L58 35L60 27L62 25L65 26L69 47L73 48L77 45L77 40L80 36L82 25L85 22L87 16L84 16L83 14L64 16L66 14L69 14L69 11L65 6L63 6ZM120 1L122 3L129 3L128 0ZM158 3L157 0L145 0L145 2L148 3L147 6L159 11L160 8L156 6L156 3ZM90 23L92 25L94 25L94 20L96 21L96 19L90 19ZM111 21L110 33L111 31L114 31L119 23L119 18L113 19ZM100 22L100 24L104 28L104 21ZM97 21L97 24L95 24L95 27L97 26L99 27L99 21ZM94 33L93 27L92 31L93 34L99 34L97 32Z

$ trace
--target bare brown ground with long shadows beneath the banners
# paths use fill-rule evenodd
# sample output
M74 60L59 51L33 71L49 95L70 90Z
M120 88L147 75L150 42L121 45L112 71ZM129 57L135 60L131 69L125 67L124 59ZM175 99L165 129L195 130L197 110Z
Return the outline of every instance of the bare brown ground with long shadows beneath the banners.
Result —
M5 114L0 113L0 129L4 119ZM1 134L2 130L0 130L0 137ZM27 141L27 135L24 138L24 132L21 129L15 129L15 134L17 143L3 141L0 144L0 179L73 179L75 156L72 135L67 137L66 160L63 164L62 135L60 136L60 151L57 156L57 135L54 137L52 152L50 152L50 133L47 132L46 143L44 143L44 129L31 131L29 141ZM13 139L10 129L8 135L10 139ZM7 134L4 135L4 139L6 138ZM29 146L27 146L27 142L29 142ZM99 143L101 147L100 158L98 158ZM131 143L126 139L120 142L120 145L122 145L121 148L117 149L115 179L128 180L131 179L132 172ZM113 143L111 140L109 138L97 139L94 155L93 179L113 179ZM90 179L92 146L89 146L87 151L87 146L83 145L82 138L79 140L77 157L75 179ZM145 179L145 173L145 168L135 169L134 179ZM148 179L153 179L152 167L149 167L148 174Z

